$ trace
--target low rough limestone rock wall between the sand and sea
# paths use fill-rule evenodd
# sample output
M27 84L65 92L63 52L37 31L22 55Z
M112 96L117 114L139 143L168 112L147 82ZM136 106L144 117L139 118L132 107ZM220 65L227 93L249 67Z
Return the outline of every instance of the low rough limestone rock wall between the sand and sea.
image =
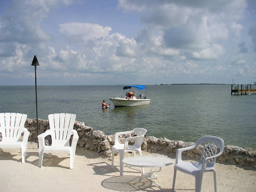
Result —
M37 142L37 126L36 119L27 119L25 127L30 132L29 141ZM50 129L49 121L38 119L38 134ZM107 157L112 156L111 147L114 145L114 135L105 135L102 131L93 130L92 127L85 126L84 122L75 121L74 129L77 131L79 139L77 147L94 150L99 154ZM120 135L118 140L124 143L125 138L136 136L133 134ZM71 138L72 139L72 138ZM0 134L0 141L2 135ZM52 140L50 136L45 138L45 145L51 145ZM134 140L129 140L129 144L132 145ZM193 145L193 142L183 142L180 140L169 140L167 138L156 138L153 136L145 136L141 145L141 149L150 153L158 153L164 151L170 154L173 158L176 156L176 151L179 148L184 148ZM197 148L184 151L182 158L197 160L202 154L203 146L199 145ZM223 153L216 158L217 162L227 164L238 164L240 166L252 166L256 168L256 149L254 148L240 148L237 146L225 145Z

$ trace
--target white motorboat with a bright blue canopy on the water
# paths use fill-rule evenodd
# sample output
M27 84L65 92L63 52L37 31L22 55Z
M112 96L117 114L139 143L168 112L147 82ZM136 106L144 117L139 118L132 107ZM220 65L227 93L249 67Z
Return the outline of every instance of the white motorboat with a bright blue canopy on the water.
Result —
M132 88L137 88L136 91L134 91L134 96L131 98L127 98L127 95L129 92L132 91ZM126 90L124 94L124 98L120 98L119 95L123 90ZM109 98L110 101L114 104L115 107L125 107L125 106L136 106L136 105L145 105L150 103L150 99L146 98L146 91L144 85L129 85L124 86L121 92L118 94L117 97L111 97Z

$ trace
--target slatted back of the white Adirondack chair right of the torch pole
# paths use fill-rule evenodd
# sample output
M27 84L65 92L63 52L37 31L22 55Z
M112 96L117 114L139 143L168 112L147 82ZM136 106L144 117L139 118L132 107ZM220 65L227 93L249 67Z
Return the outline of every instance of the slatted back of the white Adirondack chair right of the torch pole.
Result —
M52 136L52 146L69 146L76 115L57 113L50 114L48 119Z

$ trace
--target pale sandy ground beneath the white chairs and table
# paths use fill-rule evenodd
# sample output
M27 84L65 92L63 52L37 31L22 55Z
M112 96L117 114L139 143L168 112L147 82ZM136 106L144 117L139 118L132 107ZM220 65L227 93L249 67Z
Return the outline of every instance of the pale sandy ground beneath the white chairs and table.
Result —
M143 155L160 155L142 152ZM131 156L126 153L125 157ZM174 156L168 156L175 158ZM175 159L174 159L175 160ZM157 169L157 168L156 168ZM145 170L149 172L150 170ZM216 164L217 188L219 192L255 192L256 170L252 167ZM2 148L0 154L0 191L1 192L72 192L72 191L160 191L148 178L138 178L139 172L124 167L124 177L119 177L119 155L115 156L115 167L111 161L95 151L76 149L74 169L69 169L68 154L45 154L43 166L38 167L36 143L28 142L26 163L21 163L20 149ZM163 167L157 173L158 183L164 192L172 191L173 165ZM195 179L191 175L177 172L175 192L195 191ZM212 172L204 173L202 192L214 192Z

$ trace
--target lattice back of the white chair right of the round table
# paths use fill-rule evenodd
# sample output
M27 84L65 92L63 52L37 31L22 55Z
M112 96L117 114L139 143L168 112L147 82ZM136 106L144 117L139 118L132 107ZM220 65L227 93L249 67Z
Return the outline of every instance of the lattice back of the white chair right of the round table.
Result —
M209 135L206 135L197 140L196 144L203 144L203 151L200 157L200 161L204 161L205 158L218 154L220 150L222 152L224 148L224 141L221 138ZM215 160L216 157L210 158L207 160L207 163L214 165Z

